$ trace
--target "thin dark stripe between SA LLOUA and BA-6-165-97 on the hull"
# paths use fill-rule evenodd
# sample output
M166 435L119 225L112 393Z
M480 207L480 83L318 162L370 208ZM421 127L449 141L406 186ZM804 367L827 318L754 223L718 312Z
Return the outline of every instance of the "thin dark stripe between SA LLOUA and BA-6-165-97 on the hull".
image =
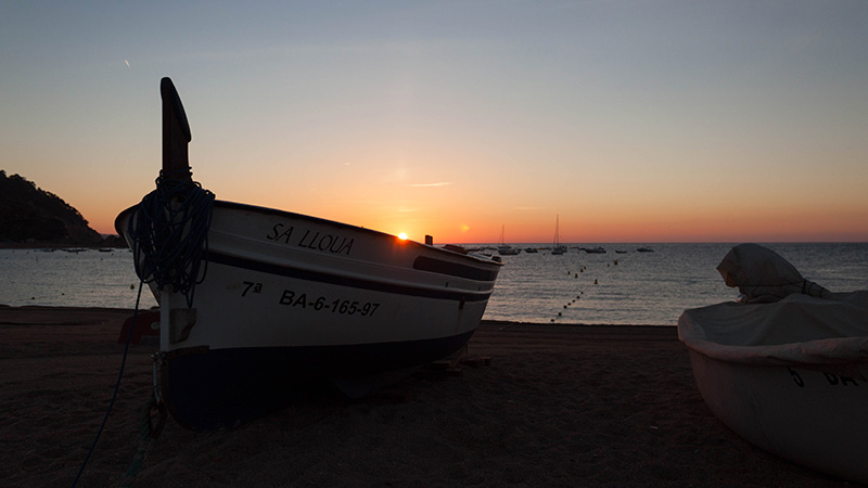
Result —
M347 278L337 274L323 273L319 271L309 271L288 266L271 265L268 262L257 261L253 259L229 256L222 253L215 253L214 251L208 252L208 261L215 262L217 265L231 266L233 268L259 271L280 277L316 281L319 283L329 283L340 286L352 286L354 288L372 290L376 292L393 293L397 295L424 296L427 298L439 298L439 299L456 300L456 301L462 301L462 300L485 301L492 294L490 292L488 292L486 294L480 295L480 294L462 293L459 291L449 292L446 290L427 290L427 288L418 288L412 286L380 283L371 280Z

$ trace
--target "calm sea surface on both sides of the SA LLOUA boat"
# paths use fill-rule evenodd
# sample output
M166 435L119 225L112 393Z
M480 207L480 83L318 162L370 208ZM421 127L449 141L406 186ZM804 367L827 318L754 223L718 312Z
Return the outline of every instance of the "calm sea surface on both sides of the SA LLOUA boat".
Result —
M593 246L597 246L595 244ZM715 268L732 244L599 244L503 256L486 319L535 323L674 325L686 308L731 300ZM868 290L868 244L765 244L833 292ZM535 246L522 244L520 247ZM585 245L588 246L588 245ZM617 254L616 251L626 251ZM0 304L132 308L139 279L127 249L0 249ZM155 306L150 293L143 308Z

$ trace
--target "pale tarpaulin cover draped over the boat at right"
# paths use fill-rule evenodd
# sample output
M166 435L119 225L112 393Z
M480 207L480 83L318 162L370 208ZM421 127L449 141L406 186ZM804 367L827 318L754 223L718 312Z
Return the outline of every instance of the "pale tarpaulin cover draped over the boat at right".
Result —
M757 262L763 255L771 262ZM750 364L868 361L868 291L831 293L816 284L803 288L795 284L804 279L792 265L755 244L735 247L718 270L727 284L732 280L730 286L765 298L686 310L678 319L678 337L689 348ZM769 300L781 293L783 297Z

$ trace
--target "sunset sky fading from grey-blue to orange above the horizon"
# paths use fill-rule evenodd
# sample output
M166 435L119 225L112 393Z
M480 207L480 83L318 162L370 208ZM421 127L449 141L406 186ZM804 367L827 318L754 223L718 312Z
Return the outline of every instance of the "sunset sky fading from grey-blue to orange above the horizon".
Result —
M868 241L868 2L0 2L0 169L421 241Z

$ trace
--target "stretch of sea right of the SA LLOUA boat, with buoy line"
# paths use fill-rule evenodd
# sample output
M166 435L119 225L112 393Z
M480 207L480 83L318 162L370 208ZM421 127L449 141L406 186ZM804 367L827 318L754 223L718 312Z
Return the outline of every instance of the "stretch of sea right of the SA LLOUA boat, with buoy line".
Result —
M535 323L675 325L685 309L731 301L716 268L735 244L593 244L503 256L485 318ZM868 244L764 244L833 292L868 290ZM527 247L522 245L521 247ZM533 247L533 245L531 246ZM617 253L621 251L622 253Z

